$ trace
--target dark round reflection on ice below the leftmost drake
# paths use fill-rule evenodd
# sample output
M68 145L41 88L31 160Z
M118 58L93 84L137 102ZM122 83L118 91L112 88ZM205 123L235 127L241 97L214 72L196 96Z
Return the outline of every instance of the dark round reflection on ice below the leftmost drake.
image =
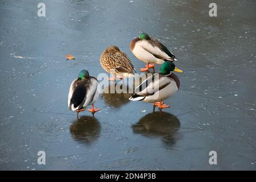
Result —
M92 143L101 133L101 124L95 117L83 115L70 126L70 133L74 140Z

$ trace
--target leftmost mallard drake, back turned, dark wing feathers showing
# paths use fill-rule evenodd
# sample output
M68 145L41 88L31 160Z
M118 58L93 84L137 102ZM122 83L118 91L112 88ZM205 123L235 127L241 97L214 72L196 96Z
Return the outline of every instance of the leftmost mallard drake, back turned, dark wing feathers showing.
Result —
M93 105L92 109L88 109L93 115L99 111L94 108L94 102L99 97L98 84L97 78L90 76L87 70L82 70L78 78L71 83L68 105L70 110L77 111L77 119L78 113L84 111L89 105Z

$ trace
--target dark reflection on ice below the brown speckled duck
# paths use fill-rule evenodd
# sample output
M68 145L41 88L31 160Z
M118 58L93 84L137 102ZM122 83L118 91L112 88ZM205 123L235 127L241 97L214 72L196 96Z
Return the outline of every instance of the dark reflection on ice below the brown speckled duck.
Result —
M122 105L127 104L128 102L130 102L129 97L131 97L131 93L117 93L116 92L116 86L117 86L117 82L113 82L111 85L107 86L106 88L104 88L104 91L101 95L102 99L106 102L107 105L109 106L114 106L114 107L120 107ZM122 89L122 86L120 86L120 88ZM125 85L126 86L126 85ZM124 88L128 88L125 87ZM114 88L114 93L111 93L110 90Z

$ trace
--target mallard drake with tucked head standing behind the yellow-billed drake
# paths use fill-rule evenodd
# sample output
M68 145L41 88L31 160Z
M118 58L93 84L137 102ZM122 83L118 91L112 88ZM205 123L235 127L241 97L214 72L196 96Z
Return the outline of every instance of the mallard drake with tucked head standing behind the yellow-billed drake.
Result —
M159 40L142 33L131 40L130 43L131 52L141 61L144 61L147 65L146 68L141 68L139 71L147 72L149 68L154 69L154 64L163 64L165 61L177 60L173 53L169 51Z

